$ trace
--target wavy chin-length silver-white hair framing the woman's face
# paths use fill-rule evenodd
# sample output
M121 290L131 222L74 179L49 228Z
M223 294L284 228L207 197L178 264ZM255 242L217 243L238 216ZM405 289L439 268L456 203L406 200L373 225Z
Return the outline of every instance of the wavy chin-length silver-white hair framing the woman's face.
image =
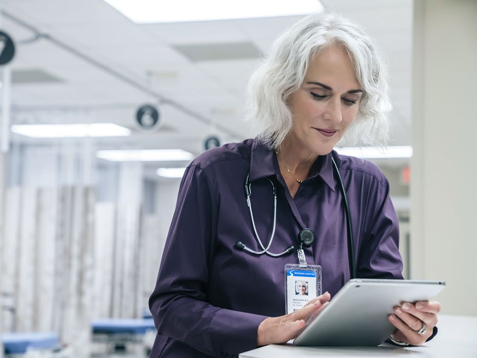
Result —
M250 78L246 119L269 148L280 148L292 129L287 98L302 85L310 60L331 45L347 49L363 89L358 115L339 143L387 146L390 102L385 56L361 25L338 12L324 11L304 17L278 37Z

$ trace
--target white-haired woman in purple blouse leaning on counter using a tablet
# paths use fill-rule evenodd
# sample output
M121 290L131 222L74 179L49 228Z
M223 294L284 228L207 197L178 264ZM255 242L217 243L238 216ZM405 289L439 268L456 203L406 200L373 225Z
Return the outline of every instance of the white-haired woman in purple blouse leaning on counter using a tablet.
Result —
M149 301L158 328L151 357L237 357L287 342L350 279L333 159L350 203L357 277L403 278L386 177L371 163L333 151L345 134L359 136L361 144L386 143L380 109L387 101L386 74L374 41L335 13L307 16L275 41L250 80L249 117L258 137L207 150L182 178ZM316 235L303 251L308 264L321 266L326 292L285 314L283 269L298 263L296 251L254 255L236 242L262 251L261 238L280 253L298 247L304 228ZM396 341L421 344L431 337L440 306L421 305L403 305L389 316L399 329ZM423 324L427 332L418 334Z

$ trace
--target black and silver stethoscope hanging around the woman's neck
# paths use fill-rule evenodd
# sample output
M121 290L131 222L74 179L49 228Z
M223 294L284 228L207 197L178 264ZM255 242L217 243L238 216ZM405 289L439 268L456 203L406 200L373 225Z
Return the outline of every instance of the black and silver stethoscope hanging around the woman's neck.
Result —
M347 237L348 237L348 248L349 248L349 250L348 250L349 258L348 259L349 259L349 263L350 263L351 278L355 279L356 278L356 258L355 258L354 239L353 239L353 225L351 223L351 215L350 215L350 211L349 211L348 197L346 195L346 190L344 189L343 180L341 179L341 175L340 175L340 171L338 170L338 166L336 165L336 162L333 158L331 158L331 161L333 162L333 168L335 169L335 172L338 174L338 180L340 181L341 192L343 193L344 206L345 206L345 209L346 209L346 222L347 222L347 227L348 227L348 235L347 235ZM285 251L283 251L279 254L273 254L270 251L268 251L270 249L270 247L272 246L273 237L275 236L275 228L276 228L276 188L275 188L275 185L273 184L273 182L267 177L265 177L265 179L267 179L270 182L270 184L272 184L273 197L274 197L274 199L273 199L273 230L272 230L272 236L270 237L270 240L269 240L269 243L268 243L267 247L265 247L263 245L262 240L258 236L257 228L255 227L255 220L253 218L252 204L250 202L250 195L251 195L252 191L251 191L251 183L249 181L249 177L250 177L250 172L247 174L247 177L245 178L245 193L247 195L247 205L249 207L250 218L252 220L253 232L255 233L255 237L258 241L258 244L262 248L262 251L253 251L253 250L249 249L245 244L243 244L240 241L237 241L235 243L235 247L240 249L240 250L244 250L244 251L247 251L247 252L249 252L251 254L255 254L255 255L267 254L267 255L270 255L270 256L273 256L273 257L279 257L279 256L282 256L282 255L291 254L293 251L295 251L295 246L293 246L293 245L288 246L285 249ZM308 229L308 228L302 229L298 234L298 240L300 242L299 248L301 250L303 245L310 246L315 241L315 233L311 229Z

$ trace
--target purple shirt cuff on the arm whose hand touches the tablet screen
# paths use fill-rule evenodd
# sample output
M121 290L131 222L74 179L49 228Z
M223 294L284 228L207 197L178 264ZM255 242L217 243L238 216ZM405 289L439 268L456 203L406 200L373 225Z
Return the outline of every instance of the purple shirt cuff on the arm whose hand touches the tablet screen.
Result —
M253 313L222 309L216 312L208 329L215 357L238 357L257 348L260 323L267 318Z

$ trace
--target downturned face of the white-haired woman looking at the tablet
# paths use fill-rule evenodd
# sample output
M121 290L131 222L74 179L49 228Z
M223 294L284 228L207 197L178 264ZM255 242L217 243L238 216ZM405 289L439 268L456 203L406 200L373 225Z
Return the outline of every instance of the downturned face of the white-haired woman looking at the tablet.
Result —
M304 153L330 153L355 119L362 95L346 49L332 46L321 51L299 90L287 100L293 116L291 140Z

